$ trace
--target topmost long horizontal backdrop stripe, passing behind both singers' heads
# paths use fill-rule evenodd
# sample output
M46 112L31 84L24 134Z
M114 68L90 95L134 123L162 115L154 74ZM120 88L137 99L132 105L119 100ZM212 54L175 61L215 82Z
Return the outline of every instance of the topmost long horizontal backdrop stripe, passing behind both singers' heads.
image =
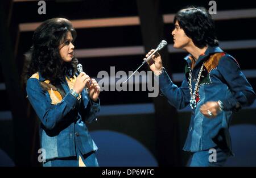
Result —
M164 14L164 23L172 23L175 14ZM242 18L256 18L256 9L244 10L226 10L217 11L213 15L214 20L228 20L228 19L242 19ZM102 19L82 19L71 20L75 28L99 28L99 27L116 27L116 26L138 26L141 24L139 16L127 16L121 18L102 18ZM34 23L20 23L20 31L34 31L42 22Z

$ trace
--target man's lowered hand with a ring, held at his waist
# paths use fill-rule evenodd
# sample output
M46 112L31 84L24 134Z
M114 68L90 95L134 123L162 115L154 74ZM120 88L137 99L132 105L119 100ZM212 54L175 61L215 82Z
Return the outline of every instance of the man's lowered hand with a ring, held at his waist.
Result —
M200 107L200 111L207 118L214 118L220 111L220 106L217 101L208 101Z

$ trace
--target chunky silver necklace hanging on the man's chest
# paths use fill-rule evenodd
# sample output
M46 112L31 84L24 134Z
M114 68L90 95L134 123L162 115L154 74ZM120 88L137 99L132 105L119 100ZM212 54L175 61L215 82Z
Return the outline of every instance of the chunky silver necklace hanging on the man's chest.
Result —
M196 85L195 85L195 89L194 89L194 93L192 90L192 70L189 67L189 77L188 77L188 87L189 87L189 92L190 92L190 107L191 109L196 109L196 94L199 92L199 82L200 82L200 78L201 78L201 74L203 72L203 68L204 68L204 63L200 68L200 71L198 73L197 79L196 79Z

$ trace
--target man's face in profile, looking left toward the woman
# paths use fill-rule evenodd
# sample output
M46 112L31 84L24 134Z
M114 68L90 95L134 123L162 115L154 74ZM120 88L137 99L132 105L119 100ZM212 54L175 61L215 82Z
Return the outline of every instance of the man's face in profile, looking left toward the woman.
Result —
M180 28L179 22L175 22L175 28L172 30L172 36L174 38L174 48L184 49L192 43L191 38L185 34L184 30Z

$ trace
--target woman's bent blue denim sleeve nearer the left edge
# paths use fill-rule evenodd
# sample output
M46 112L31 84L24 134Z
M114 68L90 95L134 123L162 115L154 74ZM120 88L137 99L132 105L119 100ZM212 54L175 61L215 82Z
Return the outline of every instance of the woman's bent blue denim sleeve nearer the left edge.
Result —
M36 78L27 80L26 90L30 104L48 130L54 129L57 123L72 110L77 102L77 98L68 93L59 104L52 106L51 101L47 99L48 92L42 89L40 81Z

